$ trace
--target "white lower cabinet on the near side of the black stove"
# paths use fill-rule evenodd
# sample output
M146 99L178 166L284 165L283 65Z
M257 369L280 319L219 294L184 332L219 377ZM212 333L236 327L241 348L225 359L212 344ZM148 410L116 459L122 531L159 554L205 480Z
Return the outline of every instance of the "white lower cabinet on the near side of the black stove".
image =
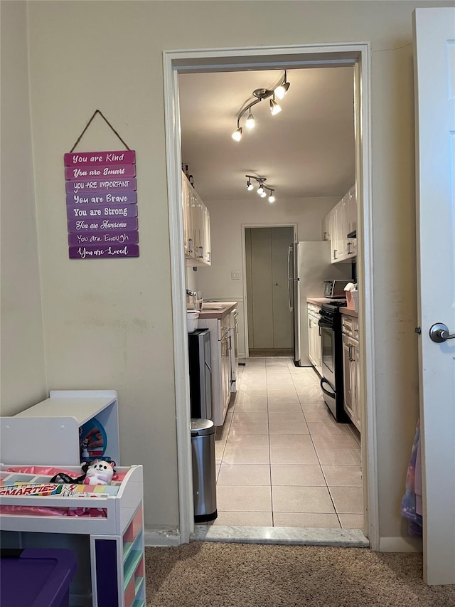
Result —
M342 315L344 408L355 428L360 432L362 403L360 398L360 363L358 320Z

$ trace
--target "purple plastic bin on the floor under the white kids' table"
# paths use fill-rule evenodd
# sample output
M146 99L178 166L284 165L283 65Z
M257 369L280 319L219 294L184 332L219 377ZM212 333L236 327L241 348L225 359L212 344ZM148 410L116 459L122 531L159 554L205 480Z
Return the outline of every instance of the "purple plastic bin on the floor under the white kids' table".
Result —
M1 607L68 607L75 554L65 548L2 549Z

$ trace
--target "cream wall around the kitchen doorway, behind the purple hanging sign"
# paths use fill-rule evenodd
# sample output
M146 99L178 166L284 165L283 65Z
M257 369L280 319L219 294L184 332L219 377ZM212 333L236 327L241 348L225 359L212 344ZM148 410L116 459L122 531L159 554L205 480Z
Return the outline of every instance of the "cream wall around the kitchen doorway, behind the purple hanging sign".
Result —
M223 0L28 3L47 387L119 391L122 461L145 466L146 527L178 526L168 243L168 204L177 203L166 188L162 51L370 41L380 535L407 534L400 500L418 410L412 10L449 4L242 1L240 11ZM21 53L11 60L23 66ZM63 154L95 109L137 151L138 259L68 260ZM5 120L13 117L10 105ZM113 145L98 125L78 149ZM16 163L16 181L28 176ZM16 201L33 215L30 196ZM29 260L17 263L26 272ZM21 389L23 361L13 366ZM33 392L41 398L39 382Z

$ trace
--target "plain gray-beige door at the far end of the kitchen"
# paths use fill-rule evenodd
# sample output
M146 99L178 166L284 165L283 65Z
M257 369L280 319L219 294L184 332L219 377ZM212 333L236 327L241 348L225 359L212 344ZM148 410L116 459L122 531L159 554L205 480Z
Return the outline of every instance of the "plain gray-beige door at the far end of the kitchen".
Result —
M287 252L293 240L291 227L245 231L250 349L294 347L287 292Z

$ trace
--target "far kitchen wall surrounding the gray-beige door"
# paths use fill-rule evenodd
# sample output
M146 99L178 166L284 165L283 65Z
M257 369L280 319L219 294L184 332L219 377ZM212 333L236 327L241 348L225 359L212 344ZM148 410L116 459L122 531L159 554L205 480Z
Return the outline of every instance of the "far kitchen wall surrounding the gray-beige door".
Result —
M210 235L212 265L201 267L198 289L206 299L238 301L239 310L239 356L245 357L246 316L243 290L242 239L245 226L294 225L297 239L301 241L321 240L321 219L342 198L277 199L270 204L267 199L250 196L241 201L204 201L210 211ZM240 271L240 280L232 279L232 270Z

